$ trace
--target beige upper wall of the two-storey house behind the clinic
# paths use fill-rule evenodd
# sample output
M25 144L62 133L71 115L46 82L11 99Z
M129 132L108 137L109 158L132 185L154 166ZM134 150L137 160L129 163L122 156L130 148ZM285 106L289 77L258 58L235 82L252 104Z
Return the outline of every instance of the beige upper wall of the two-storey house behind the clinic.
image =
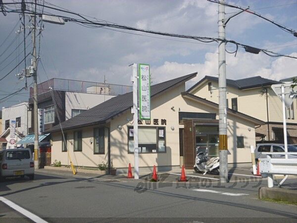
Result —
M212 93L208 91L208 82L212 83L214 90ZM218 83L212 81L205 81L197 89L194 89L192 94L212 101L214 103L219 102ZM228 108L232 108L232 98L237 98L238 111L258 118L262 121L267 121L266 110L266 94L260 93L261 88L238 90L227 86L227 99ZM287 119L288 123L297 123L297 101L294 101L294 119ZM275 95L275 93L268 89L268 110L269 121L283 122L283 111L281 100Z

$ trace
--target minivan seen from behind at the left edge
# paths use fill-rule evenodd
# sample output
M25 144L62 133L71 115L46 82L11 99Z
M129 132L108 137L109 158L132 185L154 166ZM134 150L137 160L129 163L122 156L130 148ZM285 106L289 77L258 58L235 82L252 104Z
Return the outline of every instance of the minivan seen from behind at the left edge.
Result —
M34 179L34 162L29 148L0 151L0 180L10 176Z

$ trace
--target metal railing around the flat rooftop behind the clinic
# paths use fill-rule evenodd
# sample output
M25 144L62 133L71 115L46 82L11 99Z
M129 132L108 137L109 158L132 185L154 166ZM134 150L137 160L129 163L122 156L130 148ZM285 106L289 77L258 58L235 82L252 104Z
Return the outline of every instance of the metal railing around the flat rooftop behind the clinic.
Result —
M38 95L49 92L51 87L53 90L81 92L102 95L122 95L132 91L132 86L108 84L90 81L68 80L61 78L52 78L49 81L42 82L37 85ZM33 97L33 88L30 88L30 98Z

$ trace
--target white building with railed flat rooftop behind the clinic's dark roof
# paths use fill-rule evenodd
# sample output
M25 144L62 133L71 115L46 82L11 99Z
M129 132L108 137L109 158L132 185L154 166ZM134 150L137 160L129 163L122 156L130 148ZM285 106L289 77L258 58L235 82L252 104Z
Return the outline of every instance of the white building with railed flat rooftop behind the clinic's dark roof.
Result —
M52 89L52 91L50 91ZM89 110L117 95L132 91L131 86L52 78L37 85L38 109L44 111L44 131ZM55 106L54 106L55 105ZM30 88L29 108L33 111L33 88ZM31 113L29 134L34 133Z

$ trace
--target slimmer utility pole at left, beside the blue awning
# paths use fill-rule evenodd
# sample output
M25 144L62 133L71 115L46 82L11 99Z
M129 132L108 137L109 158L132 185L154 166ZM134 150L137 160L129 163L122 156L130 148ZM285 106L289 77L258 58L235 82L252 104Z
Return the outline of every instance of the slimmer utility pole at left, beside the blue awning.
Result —
M36 3L36 0L35 0ZM35 13L35 12L34 12ZM36 14L32 15L32 42L33 42L33 61L34 67L34 167L39 169L39 139L38 139L38 103L37 103L37 57L36 57Z

